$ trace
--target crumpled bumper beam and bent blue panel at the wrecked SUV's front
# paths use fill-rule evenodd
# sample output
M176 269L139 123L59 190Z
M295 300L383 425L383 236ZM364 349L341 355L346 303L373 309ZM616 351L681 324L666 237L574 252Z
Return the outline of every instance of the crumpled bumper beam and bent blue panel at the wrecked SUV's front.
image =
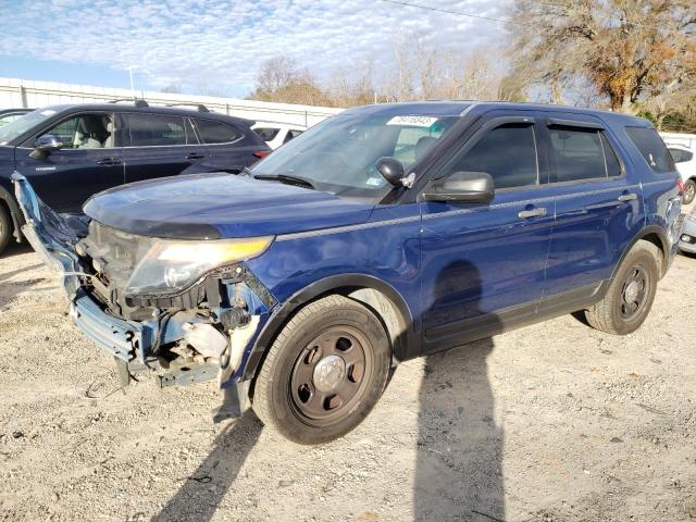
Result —
M125 321L105 313L80 287L79 277L88 275L83 273L75 254L79 239L76 231L36 196L24 176L14 173L12 181L25 219L22 233L59 277L75 324L108 353L123 361L137 359L145 363L158 339L157 322Z

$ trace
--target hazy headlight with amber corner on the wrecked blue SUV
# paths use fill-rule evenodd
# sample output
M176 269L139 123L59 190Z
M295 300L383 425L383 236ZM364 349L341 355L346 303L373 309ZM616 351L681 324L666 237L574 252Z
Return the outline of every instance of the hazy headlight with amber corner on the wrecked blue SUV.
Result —
M272 243L272 236L215 241L156 240L133 271L126 294L177 294L213 269L262 254Z

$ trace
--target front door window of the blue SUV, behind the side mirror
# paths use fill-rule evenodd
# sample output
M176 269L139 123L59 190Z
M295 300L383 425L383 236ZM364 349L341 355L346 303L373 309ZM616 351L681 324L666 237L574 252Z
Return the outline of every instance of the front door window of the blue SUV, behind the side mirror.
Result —
M449 170L487 172L496 189L536 185L534 126L514 123L494 128Z

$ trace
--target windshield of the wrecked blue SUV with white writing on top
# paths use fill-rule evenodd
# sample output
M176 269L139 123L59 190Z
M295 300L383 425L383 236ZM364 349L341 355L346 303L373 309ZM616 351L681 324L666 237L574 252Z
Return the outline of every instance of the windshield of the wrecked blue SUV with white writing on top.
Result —
M408 169L458 120L457 116L338 114L258 163L254 176L295 176L318 190L381 199L393 188L374 166L394 157Z

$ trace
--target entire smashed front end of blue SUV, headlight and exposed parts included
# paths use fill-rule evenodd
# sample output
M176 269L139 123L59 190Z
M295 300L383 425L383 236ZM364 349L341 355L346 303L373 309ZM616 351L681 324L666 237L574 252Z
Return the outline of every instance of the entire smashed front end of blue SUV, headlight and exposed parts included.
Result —
M245 353L276 304L247 259L273 237L174 240L71 222L13 175L27 240L60 275L75 324L113 356L124 382L153 372L160 387L217 380L215 420L246 409Z

